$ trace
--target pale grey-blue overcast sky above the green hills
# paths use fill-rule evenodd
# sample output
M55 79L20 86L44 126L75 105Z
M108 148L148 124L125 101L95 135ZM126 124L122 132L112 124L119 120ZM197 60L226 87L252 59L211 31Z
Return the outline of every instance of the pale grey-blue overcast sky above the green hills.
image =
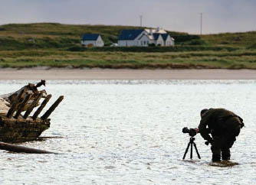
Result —
M57 22L200 34L256 31L256 0L0 0L0 24Z

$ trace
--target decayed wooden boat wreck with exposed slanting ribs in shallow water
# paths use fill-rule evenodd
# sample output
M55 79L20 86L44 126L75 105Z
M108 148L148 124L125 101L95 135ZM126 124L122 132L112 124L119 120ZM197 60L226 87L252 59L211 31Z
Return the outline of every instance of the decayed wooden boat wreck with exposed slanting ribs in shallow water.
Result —
M16 92L0 96L0 141L31 141L50 128L49 116L64 96L60 96L44 115L39 117L44 106L51 99L51 94L48 95L45 89L38 90L42 85L45 86L44 80L36 85L28 83ZM44 101L40 103L41 99ZM37 106L38 109L30 115Z

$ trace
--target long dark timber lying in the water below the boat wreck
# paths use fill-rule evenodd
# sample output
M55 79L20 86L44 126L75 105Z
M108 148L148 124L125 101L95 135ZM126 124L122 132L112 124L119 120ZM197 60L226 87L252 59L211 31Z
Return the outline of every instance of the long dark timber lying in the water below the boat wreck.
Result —
M18 153L27 153L27 154L57 154L51 151L44 151L35 148L28 148L23 146L17 146L15 144L8 144L4 142L0 142L0 150L12 151Z

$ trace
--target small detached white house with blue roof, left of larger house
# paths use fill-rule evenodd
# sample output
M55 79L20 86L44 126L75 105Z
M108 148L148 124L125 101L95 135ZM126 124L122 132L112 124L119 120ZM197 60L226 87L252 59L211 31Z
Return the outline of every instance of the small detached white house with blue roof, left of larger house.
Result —
M84 34L81 44L87 47L103 47L104 42L100 34Z

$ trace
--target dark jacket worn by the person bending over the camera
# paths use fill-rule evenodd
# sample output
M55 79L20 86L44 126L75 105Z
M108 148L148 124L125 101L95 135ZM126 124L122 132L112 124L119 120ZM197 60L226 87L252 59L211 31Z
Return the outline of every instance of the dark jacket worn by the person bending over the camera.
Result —
M236 115L234 112L227 109L209 109L202 115L199 124L199 133L207 141L212 141L212 135L227 135L232 134L228 132L229 128L234 128L240 125L244 126L243 119Z

